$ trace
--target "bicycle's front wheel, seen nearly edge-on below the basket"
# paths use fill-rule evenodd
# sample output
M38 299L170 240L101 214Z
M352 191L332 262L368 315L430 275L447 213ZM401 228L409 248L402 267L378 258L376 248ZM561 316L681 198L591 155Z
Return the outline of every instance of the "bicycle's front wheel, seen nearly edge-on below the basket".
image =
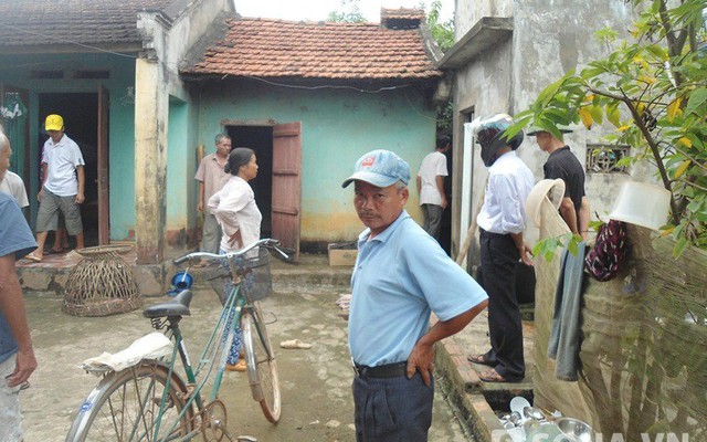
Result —
M279 420L281 411L277 365L258 308L253 307L243 312L241 329L243 330L247 379L251 383L253 399L260 402L265 419L276 423Z

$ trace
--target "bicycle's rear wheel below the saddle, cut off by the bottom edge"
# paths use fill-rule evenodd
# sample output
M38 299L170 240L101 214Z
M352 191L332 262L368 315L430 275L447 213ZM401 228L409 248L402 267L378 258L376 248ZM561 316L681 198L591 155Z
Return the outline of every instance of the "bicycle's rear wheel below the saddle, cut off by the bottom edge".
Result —
M179 418L186 387L172 373L166 390L168 373L163 364L146 360L106 376L78 409L66 442L161 441L187 435L193 412L189 407Z

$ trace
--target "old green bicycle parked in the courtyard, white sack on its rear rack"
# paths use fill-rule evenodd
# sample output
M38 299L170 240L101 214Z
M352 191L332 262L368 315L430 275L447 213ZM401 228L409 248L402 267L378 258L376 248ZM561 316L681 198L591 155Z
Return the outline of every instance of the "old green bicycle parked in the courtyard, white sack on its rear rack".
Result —
M247 320L250 333L246 334L247 337L244 345L247 356L249 378L254 394L253 399L261 403L261 408L263 408L265 418L268 421L277 422L281 402L277 372L274 365L275 355L270 345L260 309L246 294L251 281L246 276L250 270L247 270L246 265L241 265L242 262L238 260L257 246L274 248L284 259L287 259L287 255L277 249L277 244L276 240L266 239L234 253L223 255L191 253L175 260L175 264L178 265L194 259L226 259L230 267L231 286L228 287L228 295L225 302L223 302L221 316L205 341L198 362L192 365L187 350L186 338L179 327L179 322L183 314L181 312L184 312L180 308L182 306L188 308L191 294L184 294L184 296L180 297L179 302L182 304L177 304L180 308L173 308L173 304L167 303L168 305L160 305L150 313L146 309L146 316L150 318L152 327L157 330L165 329L163 334L172 340L171 354L157 359L143 359L139 364L120 371L101 370L104 373L104 379L89 393L77 411L66 440L83 440L81 436L85 438L88 434L91 429L94 428L94 420L99 415L104 417L102 419L107 422L108 428L115 428L116 431L119 431L119 433L116 433L122 435L119 440L124 440L123 436L125 435L129 436L129 440L186 441L191 440L207 429L209 431L217 429L214 431L218 431L219 428L222 428L225 431L224 425L220 427L225 423L225 420L223 419L222 421L220 417L223 415L225 418L225 414L220 414L219 408L222 409L222 413L225 413L225 409L223 403L218 400L218 393L223 381L223 371L225 370L235 330L240 326L244 314L249 318L252 316L252 319ZM189 269L187 269L187 272L189 272ZM244 282L247 282L247 284L243 284ZM154 314L156 312L158 314ZM162 315L162 312L167 312L167 316ZM261 391L261 382L258 380L261 368L256 368L253 365L254 350L251 339L255 334L257 334L261 341L267 343L264 346L267 356L265 360L267 369L272 368L273 373L268 378L273 383L267 397L264 397ZM263 350L258 351L262 356ZM178 359L181 361L182 369L176 369ZM254 379L251 378L251 375ZM205 386L210 380L213 380L213 385L207 400ZM130 387L126 389L126 386ZM122 388L122 390L118 390L118 388ZM128 411L133 408L136 410L135 414L123 414L123 411L126 410L125 408L118 408L118 414L116 414L112 404L112 398L116 391L122 391L116 393L116 402L123 404L127 403L124 402L124 399L129 399L131 406L128 407ZM120 394L126 391L128 394L122 397ZM96 401L97 407L94 407ZM105 411L102 412L104 407L107 413ZM116 419L116 415L119 415L119 418ZM124 415L126 420L123 420ZM124 427L124 423L127 423L128 427ZM96 435L93 432L91 434ZM149 438L150 435L151 438ZM78 439L70 439L72 436Z

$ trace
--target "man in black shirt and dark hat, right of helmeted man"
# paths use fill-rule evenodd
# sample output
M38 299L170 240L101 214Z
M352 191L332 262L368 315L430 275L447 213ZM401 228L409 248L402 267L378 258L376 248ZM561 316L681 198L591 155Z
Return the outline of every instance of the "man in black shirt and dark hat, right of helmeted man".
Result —
M561 133L570 130L560 129ZM546 179L560 178L564 181L564 197L560 203L560 215L572 233L579 234L587 241L589 230L589 199L584 193L584 169L569 146L561 138L557 138L544 129L528 131L535 136L540 150L550 154L542 166Z

